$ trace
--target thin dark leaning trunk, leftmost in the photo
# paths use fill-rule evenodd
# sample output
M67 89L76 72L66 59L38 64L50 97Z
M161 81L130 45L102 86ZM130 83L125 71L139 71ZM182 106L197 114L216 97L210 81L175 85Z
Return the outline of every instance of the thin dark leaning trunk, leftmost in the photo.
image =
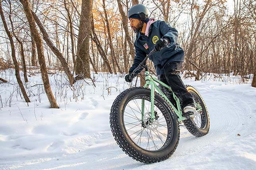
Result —
M2 21L3 21L3 24L4 24L4 29L6 31L6 34L8 35L9 40L10 40L10 44L11 44L11 48L12 48L12 60L13 60L14 66L15 66L15 76L16 76L17 82L19 84L19 87L21 88L21 93L23 94L23 97L25 98L25 101L30 102L29 97L27 96L26 90L25 90L25 88L23 86L23 83L21 81L21 77L19 76L19 65L18 65L18 62L17 62L17 59L16 59L16 55L15 55L15 47L14 47L14 43L13 43L13 39L12 39L12 34L9 31L8 26L6 24L1 2L0 2L0 15L1 15L1 18L2 18Z

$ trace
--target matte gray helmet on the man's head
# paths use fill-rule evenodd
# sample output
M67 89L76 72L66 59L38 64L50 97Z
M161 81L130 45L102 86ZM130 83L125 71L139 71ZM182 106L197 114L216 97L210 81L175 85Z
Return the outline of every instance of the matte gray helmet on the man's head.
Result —
M146 18L148 18L149 11L148 11L148 9L144 5L138 4L138 5L132 6L129 9L129 11L128 11L128 18L130 18L134 14L138 14L140 19L143 21Z

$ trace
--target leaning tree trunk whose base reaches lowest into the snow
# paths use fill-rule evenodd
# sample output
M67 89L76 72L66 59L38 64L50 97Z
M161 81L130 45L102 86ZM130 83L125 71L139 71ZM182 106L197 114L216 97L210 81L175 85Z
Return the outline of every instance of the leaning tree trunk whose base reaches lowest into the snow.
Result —
M35 39L35 42L37 45L37 55L38 55L38 61L40 64L40 70L41 70L41 75L42 75L42 81L44 83L45 93L48 97L51 108L59 108L56 103L56 100L52 94L52 89L50 86L50 82L49 82L49 78L48 78L48 74L47 74L47 68L46 68L45 59L44 59L44 50L43 50L43 46L42 46L42 39L38 33L35 20L31 13L30 3L28 0L20 0L20 2L23 6L27 20L29 22L31 34L32 34L33 38Z

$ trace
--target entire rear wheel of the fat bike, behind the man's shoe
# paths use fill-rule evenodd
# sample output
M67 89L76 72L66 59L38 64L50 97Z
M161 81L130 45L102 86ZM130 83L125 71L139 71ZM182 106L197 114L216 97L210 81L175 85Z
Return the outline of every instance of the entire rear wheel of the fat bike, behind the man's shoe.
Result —
M189 91L196 103L196 110L198 110L198 105L202 109L198 111L198 115L184 120L183 123L192 135L197 137L204 136L209 132L210 128L209 114L206 105L203 98L194 87L187 85L187 91Z

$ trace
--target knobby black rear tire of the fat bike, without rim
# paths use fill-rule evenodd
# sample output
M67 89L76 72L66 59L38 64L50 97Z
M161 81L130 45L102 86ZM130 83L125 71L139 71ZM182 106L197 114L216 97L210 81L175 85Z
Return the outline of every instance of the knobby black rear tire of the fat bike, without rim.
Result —
M209 119L209 114L208 114L206 105L204 103L202 96L198 93L198 91L196 91L196 89L194 87L192 87L190 85L186 85L186 87L187 87L187 91L189 91L189 93L193 93L200 101L200 105L203 110L203 113L200 116L202 125L200 128L197 127L191 117L189 119L184 120L183 123L184 123L185 127L187 128L187 130L192 135L194 135L196 137L204 136L209 132L209 128L210 128L210 119Z

